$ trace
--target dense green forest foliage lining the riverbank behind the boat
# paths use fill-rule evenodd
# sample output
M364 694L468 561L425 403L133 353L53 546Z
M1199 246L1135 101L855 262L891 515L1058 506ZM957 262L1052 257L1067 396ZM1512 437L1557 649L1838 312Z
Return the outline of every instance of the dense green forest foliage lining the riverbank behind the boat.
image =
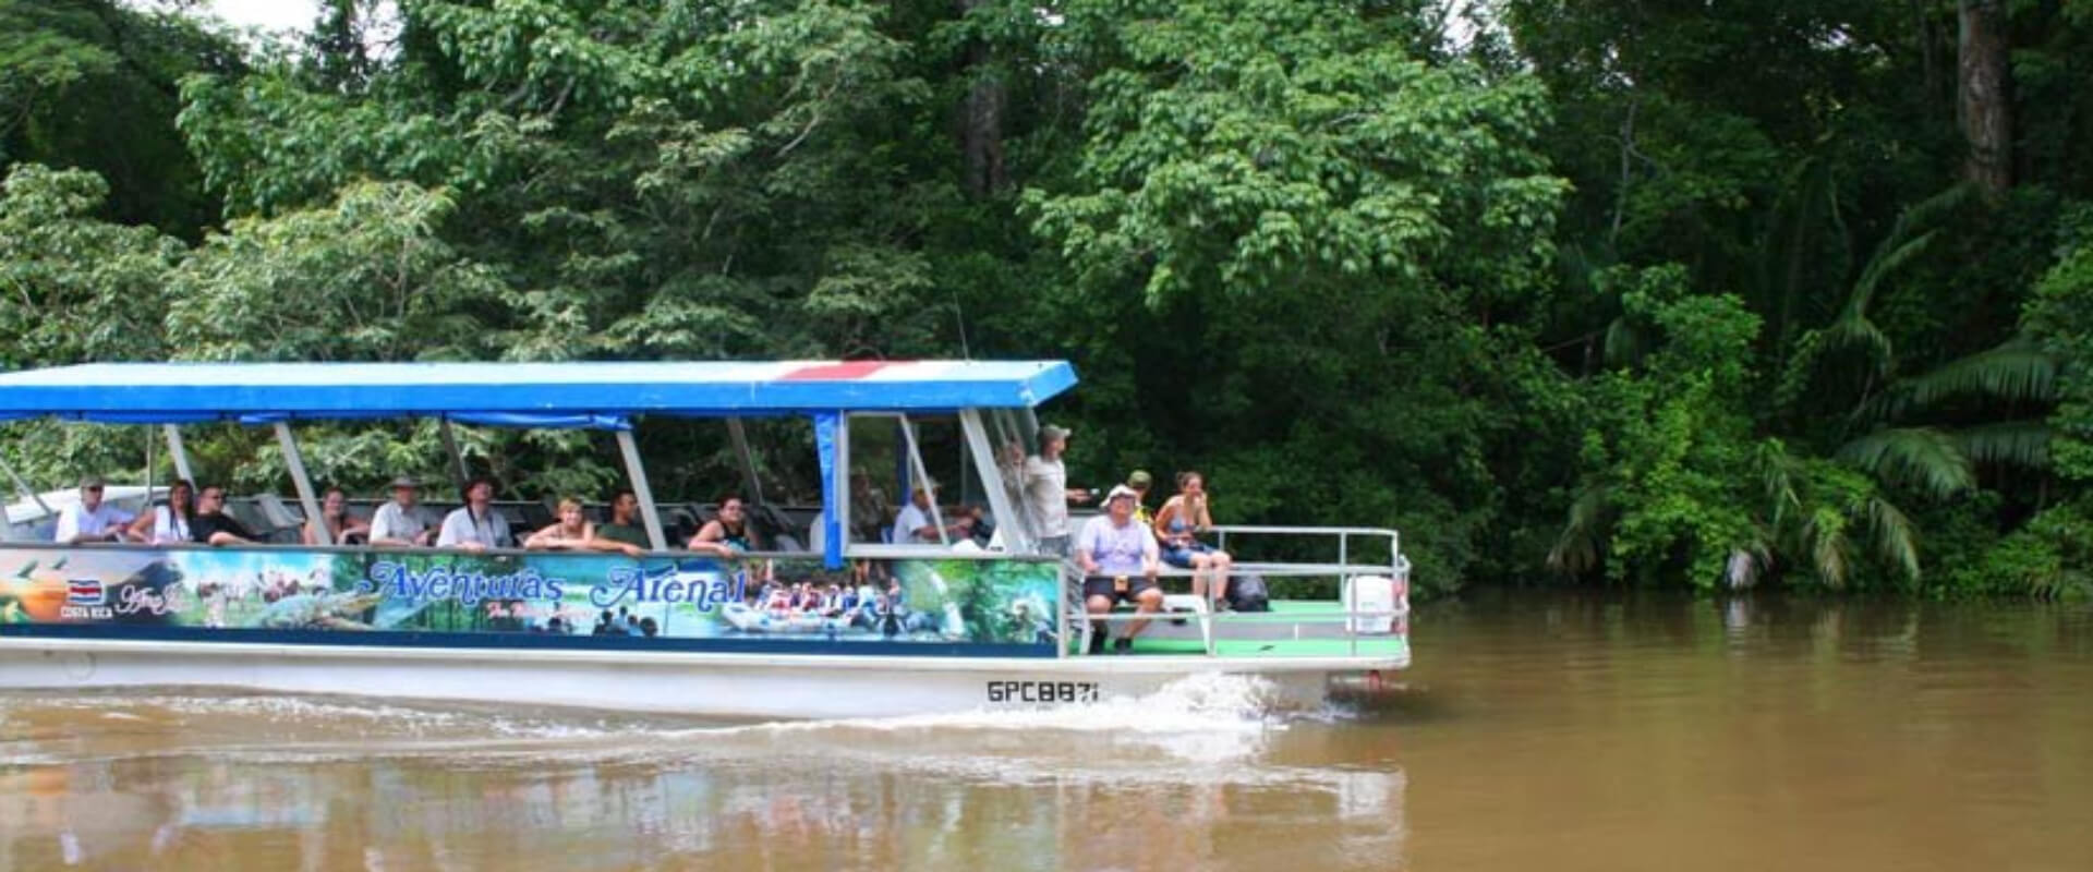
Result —
M2087 4L1461 8L329 0L251 44L0 0L0 353L1070 358L1080 481L1394 525L1427 590L2093 592ZM138 464L10 427L46 485ZM264 437L190 443L274 487ZM440 471L427 424L301 439Z

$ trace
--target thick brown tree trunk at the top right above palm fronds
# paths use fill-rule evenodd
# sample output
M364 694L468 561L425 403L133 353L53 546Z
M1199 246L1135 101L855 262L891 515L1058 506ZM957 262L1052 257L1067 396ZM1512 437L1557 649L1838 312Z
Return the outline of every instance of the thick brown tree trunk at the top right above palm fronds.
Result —
M1955 115L1961 119L1970 155L1963 178L1976 182L1986 197L2003 194L2013 184L2013 113L2007 102L2011 73L2005 67L2005 6L2001 0L1957 0L1961 33L1957 40Z

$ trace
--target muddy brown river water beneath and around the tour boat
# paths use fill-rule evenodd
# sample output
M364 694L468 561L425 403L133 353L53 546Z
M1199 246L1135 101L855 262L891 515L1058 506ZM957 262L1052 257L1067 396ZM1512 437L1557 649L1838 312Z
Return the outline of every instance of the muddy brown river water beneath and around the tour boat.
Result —
M1285 715L0 694L0 870L2093 868L2085 604L1486 592L1415 657Z

